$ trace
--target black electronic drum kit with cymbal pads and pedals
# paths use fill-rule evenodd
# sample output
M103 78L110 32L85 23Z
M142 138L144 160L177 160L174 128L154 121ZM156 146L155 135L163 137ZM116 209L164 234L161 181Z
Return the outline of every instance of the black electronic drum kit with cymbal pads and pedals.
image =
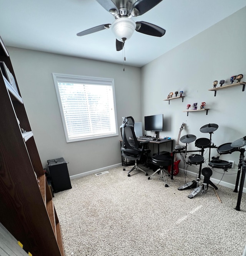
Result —
M239 186L238 203L237 203L237 206L235 208L236 210L240 211L240 202L241 202L244 178L245 178L245 173L246 173L246 162L244 160L244 151L245 151L245 149L242 148L242 147L246 146L246 136L234 141L233 143L224 143L224 144L217 147L213 143L211 145L211 141L212 141L211 140L211 135L217 129L218 129L218 125L214 124L214 123L211 123L211 124L209 123L208 125L204 125L200 128L200 131L202 133L209 133L210 134L210 139L208 139L208 138L198 138L198 139L196 139L196 136L192 135L192 134L184 135L180 138L180 141L182 143L185 143L186 146L176 145L175 146L176 151L173 151L173 154L174 153L185 153L185 155L186 155L186 153L190 153L190 152L201 152L201 153L200 154L189 155L188 160L186 162L188 165L200 165L197 180L196 181L193 180L191 182L186 183L184 186L180 186L178 188L178 190L186 190L188 188L193 188L193 192L188 196L188 198L193 198L198 193L206 193L206 191L208 189L208 185L213 186L214 189L217 190L218 189L217 186L215 186L212 183L212 181L210 181L210 177L213 174L211 168L219 168L219 169L223 169L224 171L227 171L228 169L231 168L232 163L219 159L219 156L217 156L217 157L213 156L212 160L210 160L211 148L216 148L219 155L226 155L226 154L231 154L234 151L239 151L240 152L239 165L238 165L239 169L238 169L238 174L237 174L237 178L236 178L236 185L235 185L234 192L238 192L239 178L240 178L240 174L242 173L241 182L240 182L240 186ZM197 148L199 148L200 150L188 151L187 150L187 145L189 143L194 142L194 141L195 141L195 146ZM205 167L205 168L201 169L202 164L204 163L203 153L204 153L204 149L206 149L206 148L209 148L209 163L208 163L208 165L211 168ZM201 179L201 174L204 176L203 183L201 183L201 180L200 180Z

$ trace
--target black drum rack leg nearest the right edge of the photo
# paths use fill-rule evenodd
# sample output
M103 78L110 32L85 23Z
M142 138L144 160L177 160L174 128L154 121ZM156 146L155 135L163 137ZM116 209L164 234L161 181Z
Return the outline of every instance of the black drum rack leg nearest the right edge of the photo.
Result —
M238 151L240 152L240 158L239 158L239 164L238 164L238 174L236 178L235 189L233 192L236 192L236 193L238 192L239 178L240 178L240 173L242 171L240 185L239 185L239 192L238 192L238 201L235 208L237 211L240 211L240 204L241 204L241 199L243 194L243 184L244 184L245 173L246 173L246 161L244 159L245 149L240 148Z

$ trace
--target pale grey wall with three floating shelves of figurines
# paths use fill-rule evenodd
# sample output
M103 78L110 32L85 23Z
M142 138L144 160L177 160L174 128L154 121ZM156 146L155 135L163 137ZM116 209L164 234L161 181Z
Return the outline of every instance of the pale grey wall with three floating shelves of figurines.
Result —
M218 130L212 134L216 146L245 136L246 91L242 92L243 86L219 90L216 97L213 91L208 91L213 88L214 80L226 80L226 85L232 75L242 73L242 81L246 81L245 24L246 7L141 68L142 120L145 115L163 113L165 131L160 134L175 140L182 123L185 123L185 129L181 137L193 134L197 138L209 138L209 133L200 132L202 126L218 124ZM184 91L183 103L181 99L171 100L170 105L163 101L171 91L180 90ZM183 112L187 104L197 102L199 108L203 101L209 108L208 115L205 111L189 112L189 116ZM194 144L190 143L188 150L196 150ZM211 150L211 156L218 155L216 149ZM208 151L204 158L208 164ZM234 160L238 164L239 152L221 155L220 159ZM184 167L183 162L179 167ZM236 170L226 172L224 182L235 184L236 174L231 174L237 173L237 165L234 168ZM194 166L189 166L188 170L198 171ZM224 173L216 169L212 177L220 180L222 175L217 171Z

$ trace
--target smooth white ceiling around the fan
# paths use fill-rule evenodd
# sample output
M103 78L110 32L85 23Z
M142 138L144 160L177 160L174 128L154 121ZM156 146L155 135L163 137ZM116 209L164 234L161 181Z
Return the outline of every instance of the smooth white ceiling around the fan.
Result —
M163 0L133 20L158 25L166 34L135 31L125 43L125 65L141 67L245 6L245 0ZM96 0L0 0L0 36L7 46L122 64L123 51L116 52L110 29L76 36L113 21Z

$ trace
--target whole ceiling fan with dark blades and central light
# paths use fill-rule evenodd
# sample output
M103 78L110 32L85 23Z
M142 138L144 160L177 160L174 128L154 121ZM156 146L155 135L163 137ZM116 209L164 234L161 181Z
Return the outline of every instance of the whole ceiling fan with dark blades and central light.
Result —
M110 12L115 21L110 24L103 24L93 28L89 28L77 36L88 35L104 29L111 28L116 37L116 50L123 49L125 41L129 39L134 30L137 32L151 35L155 37L162 37L166 30L148 22L134 22L131 17L140 16L155 7L162 0L96 0L100 5Z

